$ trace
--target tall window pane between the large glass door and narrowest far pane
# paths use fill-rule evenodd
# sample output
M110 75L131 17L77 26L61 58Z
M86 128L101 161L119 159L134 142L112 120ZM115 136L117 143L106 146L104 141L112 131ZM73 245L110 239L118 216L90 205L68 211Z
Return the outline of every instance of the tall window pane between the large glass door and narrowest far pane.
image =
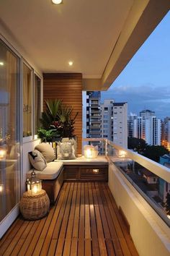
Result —
M23 137L32 135L32 70L23 64Z

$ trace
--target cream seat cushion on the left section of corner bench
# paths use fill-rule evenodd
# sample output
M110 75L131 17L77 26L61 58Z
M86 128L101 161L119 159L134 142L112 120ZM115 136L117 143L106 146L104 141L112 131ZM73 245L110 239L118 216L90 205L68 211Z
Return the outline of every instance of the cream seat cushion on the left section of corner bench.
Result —
M56 179L63 168L63 162L50 162L43 171L35 170L38 179ZM32 170L27 172L27 178L31 177Z

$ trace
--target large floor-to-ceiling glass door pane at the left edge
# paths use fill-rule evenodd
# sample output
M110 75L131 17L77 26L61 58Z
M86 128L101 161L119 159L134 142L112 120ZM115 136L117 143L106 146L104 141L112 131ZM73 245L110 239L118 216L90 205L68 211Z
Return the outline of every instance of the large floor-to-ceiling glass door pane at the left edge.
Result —
M19 202L19 57L0 40L0 221Z

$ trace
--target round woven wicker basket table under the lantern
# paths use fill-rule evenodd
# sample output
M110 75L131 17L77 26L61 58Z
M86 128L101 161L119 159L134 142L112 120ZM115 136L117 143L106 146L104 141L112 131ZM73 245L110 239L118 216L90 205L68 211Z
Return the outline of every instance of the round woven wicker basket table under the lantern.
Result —
M45 190L37 194L24 192L20 201L20 210L22 216L27 220L37 220L44 217L49 210L50 200Z

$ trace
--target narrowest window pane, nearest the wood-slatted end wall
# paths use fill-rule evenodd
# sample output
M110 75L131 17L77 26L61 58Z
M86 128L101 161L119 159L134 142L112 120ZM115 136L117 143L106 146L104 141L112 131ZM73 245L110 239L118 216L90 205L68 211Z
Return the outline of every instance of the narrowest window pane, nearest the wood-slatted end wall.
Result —
M35 135L37 129L40 128L40 114L41 114L41 80L35 74Z

